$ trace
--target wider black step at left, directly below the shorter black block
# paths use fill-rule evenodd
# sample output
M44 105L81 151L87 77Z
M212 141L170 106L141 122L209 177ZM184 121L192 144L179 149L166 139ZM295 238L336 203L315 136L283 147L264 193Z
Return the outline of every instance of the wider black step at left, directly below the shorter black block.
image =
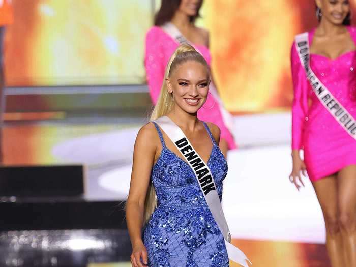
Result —
M16 198L16 202L0 203L0 231L125 229L122 207L119 201Z

